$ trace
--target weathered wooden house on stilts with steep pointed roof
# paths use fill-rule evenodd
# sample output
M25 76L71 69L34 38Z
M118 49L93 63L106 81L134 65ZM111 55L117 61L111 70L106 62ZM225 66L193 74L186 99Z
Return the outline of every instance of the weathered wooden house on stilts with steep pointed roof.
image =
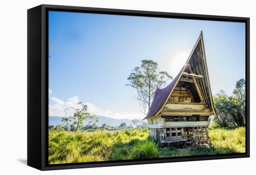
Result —
M215 115L202 32L175 79L158 88L144 118L160 145L209 144L209 116Z

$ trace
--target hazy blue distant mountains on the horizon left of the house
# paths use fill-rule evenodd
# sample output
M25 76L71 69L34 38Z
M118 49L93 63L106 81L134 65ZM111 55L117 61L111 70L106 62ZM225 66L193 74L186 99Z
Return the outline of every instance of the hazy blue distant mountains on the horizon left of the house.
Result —
M99 122L95 123L98 126L101 126L103 123L106 123L107 125L110 126L119 126L121 123L126 123L126 126L129 126L130 124L132 124L132 121L129 119L113 119L110 117L105 117L105 116L99 116L97 115ZM61 117L55 117L55 116L49 116L49 126L50 125L59 125L59 124L63 124L65 125L65 123L63 121L61 121ZM88 124L88 121L84 121L84 126Z

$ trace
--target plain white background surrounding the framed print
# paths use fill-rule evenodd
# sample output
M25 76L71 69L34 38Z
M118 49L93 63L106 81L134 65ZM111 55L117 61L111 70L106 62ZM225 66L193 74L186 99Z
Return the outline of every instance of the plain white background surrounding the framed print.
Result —
M27 162L27 9L40 4L250 17L250 158L41 172ZM2 0L0 5L0 174L254 174L256 5L253 0ZM225 58L223 58L225 59Z

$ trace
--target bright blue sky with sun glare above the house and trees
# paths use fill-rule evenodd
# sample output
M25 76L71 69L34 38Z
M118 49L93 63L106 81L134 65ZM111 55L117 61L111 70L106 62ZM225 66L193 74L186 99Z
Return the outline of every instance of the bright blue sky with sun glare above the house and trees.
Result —
M49 115L83 101L113 118L143 117L131 70L152 59L176 76L203 31L212 93L245 78L245 24L92 13L49 12Z

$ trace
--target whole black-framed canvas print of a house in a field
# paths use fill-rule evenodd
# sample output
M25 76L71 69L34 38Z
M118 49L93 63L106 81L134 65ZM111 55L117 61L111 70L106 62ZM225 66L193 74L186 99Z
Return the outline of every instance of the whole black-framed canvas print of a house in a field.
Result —
M29 166L249 157L249 18L27 12Z

